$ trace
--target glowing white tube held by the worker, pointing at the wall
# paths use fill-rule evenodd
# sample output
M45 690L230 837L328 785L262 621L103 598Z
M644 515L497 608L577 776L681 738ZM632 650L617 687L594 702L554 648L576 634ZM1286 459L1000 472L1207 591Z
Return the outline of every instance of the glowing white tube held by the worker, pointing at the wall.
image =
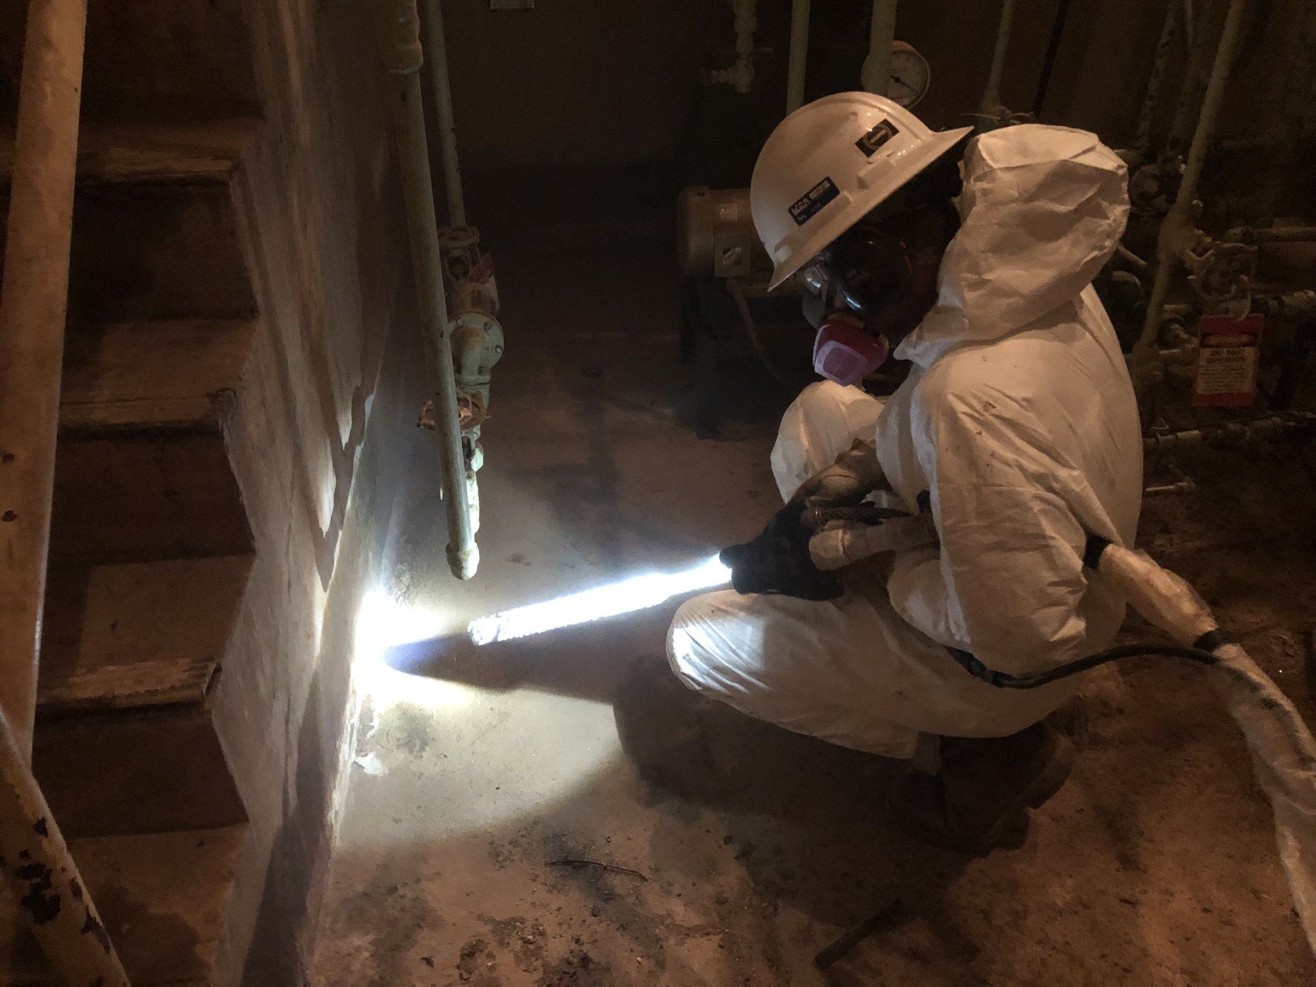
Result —
M716 555L680 572L649 572L594 590L492 613L470 624L471 641L488 645L546 630L588 624L603 617L647 609L674 596L730 582L732 571Z

